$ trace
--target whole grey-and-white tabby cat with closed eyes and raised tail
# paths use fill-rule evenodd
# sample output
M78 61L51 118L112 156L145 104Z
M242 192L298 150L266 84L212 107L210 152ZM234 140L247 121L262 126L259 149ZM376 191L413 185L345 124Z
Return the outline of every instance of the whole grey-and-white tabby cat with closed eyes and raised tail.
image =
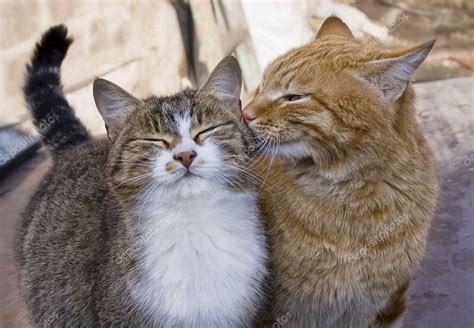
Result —
M94 98L110 141L92 140L60 84L72 40L47 31L25 95L53 167L17 238L34 326L249 327L267 249L248 176L241 73L223 59L199 89L133 97L103 79Z

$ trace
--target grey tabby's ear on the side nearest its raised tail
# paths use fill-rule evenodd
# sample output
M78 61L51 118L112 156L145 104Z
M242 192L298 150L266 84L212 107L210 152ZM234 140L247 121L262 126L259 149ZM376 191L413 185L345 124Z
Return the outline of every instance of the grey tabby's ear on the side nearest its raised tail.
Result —
M113 130L122 128L127 116L142 104L140 99L104 79L94 81L93 94L95 104L109 134Z

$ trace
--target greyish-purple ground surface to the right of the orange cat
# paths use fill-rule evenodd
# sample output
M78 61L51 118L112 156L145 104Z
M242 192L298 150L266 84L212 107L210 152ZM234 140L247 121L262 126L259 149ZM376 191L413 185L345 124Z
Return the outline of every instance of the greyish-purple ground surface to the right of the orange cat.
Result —
M473 78L417 85L441 195L427 256L410 287L405 327L474 327L473 91Z

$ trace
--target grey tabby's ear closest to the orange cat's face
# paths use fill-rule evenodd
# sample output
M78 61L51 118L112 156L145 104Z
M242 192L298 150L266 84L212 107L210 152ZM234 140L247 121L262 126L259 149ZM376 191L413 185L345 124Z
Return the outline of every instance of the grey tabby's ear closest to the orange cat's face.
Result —
M242 72L240 65L232 56L222 59L209 74L207 81L199 89L200 93L212 95L225 107L240 112L240 91Z

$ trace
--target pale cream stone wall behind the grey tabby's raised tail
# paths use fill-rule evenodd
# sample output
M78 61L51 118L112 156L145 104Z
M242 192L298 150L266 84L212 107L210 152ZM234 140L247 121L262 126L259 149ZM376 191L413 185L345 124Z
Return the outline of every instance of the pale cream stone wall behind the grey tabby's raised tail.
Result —
M95 76L137 96L181 88L186 60L176 13L166 0L0 2L0 126L31 128L22 98L25 64L49 26L65 23L74 37L63 63L68 100L94 134L104 132L92 98Z

